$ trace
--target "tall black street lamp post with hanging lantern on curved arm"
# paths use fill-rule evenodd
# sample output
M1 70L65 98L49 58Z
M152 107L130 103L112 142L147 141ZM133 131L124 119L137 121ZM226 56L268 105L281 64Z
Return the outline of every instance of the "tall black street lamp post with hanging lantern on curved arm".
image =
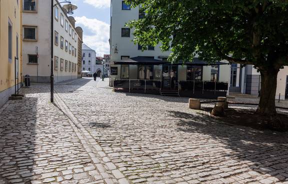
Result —
M67 14L73 14L73 10L77 9L77 6L71 4L70 1L64 0L61 2L57 2L54 4L54 0L51 0L51 71L50 71L50 102L54 102L54 68L53 68L53 40L54 40L54 28L53 28L53 20L54 20L54 7L61 3L68 3L63 5L63 8L67 10Z

